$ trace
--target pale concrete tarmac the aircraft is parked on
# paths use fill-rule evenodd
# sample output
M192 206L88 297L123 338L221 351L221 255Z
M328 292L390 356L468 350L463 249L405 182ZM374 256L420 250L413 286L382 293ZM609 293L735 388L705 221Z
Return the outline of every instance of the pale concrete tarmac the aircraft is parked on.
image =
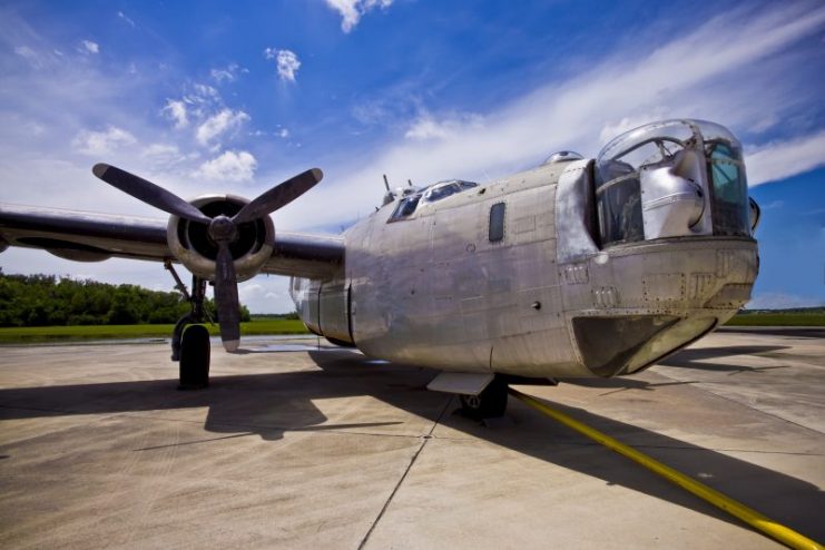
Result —
M825 541L825 333L723 331L637 376L519 386ZM0 350L2 548L780 548L518 400L314 340Z

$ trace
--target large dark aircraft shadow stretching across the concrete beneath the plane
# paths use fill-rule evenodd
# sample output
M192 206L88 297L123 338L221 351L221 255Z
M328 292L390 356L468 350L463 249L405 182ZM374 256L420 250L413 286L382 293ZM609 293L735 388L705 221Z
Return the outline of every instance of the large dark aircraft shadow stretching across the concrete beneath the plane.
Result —
M312 402L369 395L433 423L440 422L497 445L601 479L607 484L626 487L741 524L515 399L511 399L505 419L485 425L459 414L458 400L452 396L426 391L425 385L433 376L430 370L397 364L374 365L363 355L347 351L310 352L310 356L320 370L214 376L212 386L199 392L176 392L176 381L173 380L3 389L0 390L0 419L206 406L206 430L226 434L177 445L208 444L208 441L248 434L274 441L286 431L369 431L370 428L397 423L365 419L363 423L325 424L327 418ZM655 387L646 389L655 391ZM814 539L825 538L825 524L821 521L825 498L814 484L582 409L558 403L556 406L611 436L644 448L654 458L691 477L696 478L699 472L703 478L709 475L701 481L776 521ZM136 449L135 452L150 452L153 449L156 448ZM13 458L12 449L0 451ZM473 459L464 456L463 460ZM548 490L552 490L552 480L548 480Z

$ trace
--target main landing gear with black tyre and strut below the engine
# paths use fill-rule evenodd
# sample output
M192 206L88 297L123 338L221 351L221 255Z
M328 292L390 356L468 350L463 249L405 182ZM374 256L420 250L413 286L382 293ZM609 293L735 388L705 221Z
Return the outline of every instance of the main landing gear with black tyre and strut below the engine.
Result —
M200 324L206 317L204 311L206 279L193 275L189 295L171 262L167 261L164 265L175 277L178 291L191 304L191 311L178 320L171 336L171 360L177 361L179 365L178 390L200 390L209 385L212 351L209 331Z

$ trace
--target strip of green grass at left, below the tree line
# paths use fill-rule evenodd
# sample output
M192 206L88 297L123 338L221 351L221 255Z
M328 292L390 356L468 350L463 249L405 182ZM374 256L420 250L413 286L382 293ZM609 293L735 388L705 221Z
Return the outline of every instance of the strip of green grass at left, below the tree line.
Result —
M218 336L217 325L206 325ZM0 344L71 342L82 340L168 338L175 325L20 326L0 328ZM267 318L240 323L240 334L310 334L297 320Z

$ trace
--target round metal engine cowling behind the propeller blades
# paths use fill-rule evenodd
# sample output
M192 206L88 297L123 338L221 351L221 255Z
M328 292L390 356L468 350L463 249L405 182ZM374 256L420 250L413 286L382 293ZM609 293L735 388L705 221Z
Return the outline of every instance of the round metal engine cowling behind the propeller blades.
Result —
M209 217L234 216L249 200L235 195L205 195L189 202ZM238 238L229 246L238 282L254 277L272 256L275 226L269 216L238 225ZM215 279L218 246L208 226L170 216L166 239L173 255L198 277Z

